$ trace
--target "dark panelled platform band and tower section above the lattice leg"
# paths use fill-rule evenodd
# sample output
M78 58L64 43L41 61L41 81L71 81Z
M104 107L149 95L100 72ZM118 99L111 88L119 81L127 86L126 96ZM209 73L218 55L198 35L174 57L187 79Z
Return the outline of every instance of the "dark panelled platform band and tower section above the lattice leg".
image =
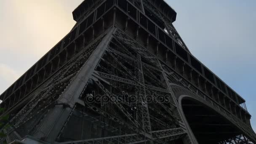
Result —
M184 75L184 80L193 80L193 85L197 85L200 91L210 96L216 93L216 99L228 109L235 105L236 109L232 111L242 112L246 115L244 121L249 123L251 115L247 112L245 100L189 52L172 25L176 12L165 1L85 0L73 11L73 18L77 21L73 29L0 95L1 107L14 109L85 45L107 29L116 27L141 45L151 48L152 53Z

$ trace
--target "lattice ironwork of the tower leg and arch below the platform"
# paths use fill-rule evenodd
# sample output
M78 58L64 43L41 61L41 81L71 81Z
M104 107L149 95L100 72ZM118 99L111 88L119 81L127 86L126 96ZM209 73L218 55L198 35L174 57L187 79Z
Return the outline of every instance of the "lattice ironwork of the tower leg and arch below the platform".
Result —
M165 23L169 26L168 21ZM178 34L173 28L168 27L168 33L175 37ZM185 46L181 38L178 43ZM180 91L197 97L237 127L245 128L243 122L237 122L237 118L177 74L149 51L147 45L112 27L29 96L29 102L5 130L7 141L32 135L59 144L173 143L177 140L197 143L181 117L177 102ZM169 97L161 101L155 94ZM96 95L100 97L96 99ZM104 101L105 96L109 101ZM127 101L134 96L135 101ZM90 97L95 100L88 101ZM242 132L251 136L245 129ZM243 140L248 141L245 136ZM240 143L241 137L224 143L234 141Z

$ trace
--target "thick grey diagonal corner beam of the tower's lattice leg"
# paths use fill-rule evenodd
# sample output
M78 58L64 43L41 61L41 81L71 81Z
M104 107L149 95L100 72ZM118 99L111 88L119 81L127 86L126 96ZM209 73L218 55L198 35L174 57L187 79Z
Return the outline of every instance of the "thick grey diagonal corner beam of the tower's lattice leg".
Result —
M97 48L93 51L86 64L83 65L74 77L74 80L72 80L64 93L61 94L56 102L57 105L55 105L45 116L34 135L36 138L43 139L50 143L56 141L59 133L61 133L61 129L68 120L69 115L72 114L75 103L79 101L78 97L90 78L89 76L91 76L97 65L95 61L99 61L101 58L101 55L107 48L107 44L112 38L113 32L115 32L115 28L110 29L101 43L99 43Z

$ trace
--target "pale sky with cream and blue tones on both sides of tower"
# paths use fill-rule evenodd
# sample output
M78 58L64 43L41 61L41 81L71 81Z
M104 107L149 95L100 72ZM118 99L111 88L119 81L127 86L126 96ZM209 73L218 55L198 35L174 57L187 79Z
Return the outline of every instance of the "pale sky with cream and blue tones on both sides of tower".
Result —
M70 31L82 1L0 1L0 93ZM256 130L256 0L166 2L192 54L246 100Z

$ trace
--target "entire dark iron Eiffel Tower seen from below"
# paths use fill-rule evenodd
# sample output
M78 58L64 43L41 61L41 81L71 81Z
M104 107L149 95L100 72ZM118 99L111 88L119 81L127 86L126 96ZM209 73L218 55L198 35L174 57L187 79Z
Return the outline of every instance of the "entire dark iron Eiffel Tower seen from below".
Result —
M164 0L85 0L0 99L1 143L253 144L245 100L198 61Z

